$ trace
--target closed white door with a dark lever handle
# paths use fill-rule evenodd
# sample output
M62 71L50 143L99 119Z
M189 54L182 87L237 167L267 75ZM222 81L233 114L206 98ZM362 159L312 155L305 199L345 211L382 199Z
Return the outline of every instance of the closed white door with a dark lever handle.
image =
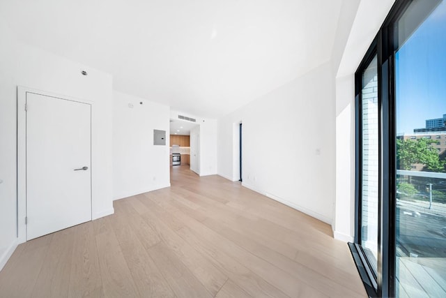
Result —
M91 221L90 163L91 105L26 93L27 240Z

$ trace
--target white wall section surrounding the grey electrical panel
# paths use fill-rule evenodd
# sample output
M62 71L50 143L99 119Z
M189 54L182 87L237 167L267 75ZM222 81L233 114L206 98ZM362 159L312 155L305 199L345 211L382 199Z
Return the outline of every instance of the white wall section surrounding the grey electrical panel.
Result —
M114 200L170 186L169 106L118 91L113 100ZM165 146L153 145L154 129L166 131Z

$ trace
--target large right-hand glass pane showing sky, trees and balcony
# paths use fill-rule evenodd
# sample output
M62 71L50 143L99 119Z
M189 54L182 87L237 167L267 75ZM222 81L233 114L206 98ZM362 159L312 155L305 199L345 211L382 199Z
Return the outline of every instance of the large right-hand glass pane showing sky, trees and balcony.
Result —
M414 1L396 27L397 297L446 297L446 3L438 2Z

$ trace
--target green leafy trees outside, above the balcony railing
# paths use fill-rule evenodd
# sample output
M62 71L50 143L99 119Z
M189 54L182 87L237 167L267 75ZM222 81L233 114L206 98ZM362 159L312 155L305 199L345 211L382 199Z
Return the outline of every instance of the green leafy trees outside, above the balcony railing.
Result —
M445 172L445 161L440 159L438 151L432 144L439 144L436 140L397 140L397 163L399 169L410 170L413 163L422 163L426 170Z

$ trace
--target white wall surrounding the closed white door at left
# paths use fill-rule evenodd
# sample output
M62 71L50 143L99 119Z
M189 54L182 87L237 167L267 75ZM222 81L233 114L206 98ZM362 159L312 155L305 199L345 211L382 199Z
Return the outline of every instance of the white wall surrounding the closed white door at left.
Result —
M113 213L112 76L18 42L0 20L0 268L17 245L17 85L93 102L93 218ZM88 76L81 75L88 71ZM24 209L23 205L19 206ZM24 218L19 221L24 239Z

